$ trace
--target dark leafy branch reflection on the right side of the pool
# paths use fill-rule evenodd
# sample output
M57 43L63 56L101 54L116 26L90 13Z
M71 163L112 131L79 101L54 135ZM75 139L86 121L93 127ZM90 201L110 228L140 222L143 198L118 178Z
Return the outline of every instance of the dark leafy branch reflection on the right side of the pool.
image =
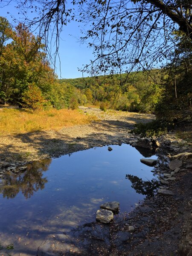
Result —
M126 174L125 179L129 179L132 183L131 187L136 190L137 193L147 195L147 198L154 195L154 191L159 187L157 180L144 181L137 176Z

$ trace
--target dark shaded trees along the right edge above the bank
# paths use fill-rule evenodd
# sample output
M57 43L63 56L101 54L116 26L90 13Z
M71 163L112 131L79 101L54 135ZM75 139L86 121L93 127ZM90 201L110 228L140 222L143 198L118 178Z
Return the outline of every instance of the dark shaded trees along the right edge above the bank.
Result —
M162 70L163 95L155 113L167 121L192 122L192 44L189 38L175 34L179 42L169 56L170 64Z

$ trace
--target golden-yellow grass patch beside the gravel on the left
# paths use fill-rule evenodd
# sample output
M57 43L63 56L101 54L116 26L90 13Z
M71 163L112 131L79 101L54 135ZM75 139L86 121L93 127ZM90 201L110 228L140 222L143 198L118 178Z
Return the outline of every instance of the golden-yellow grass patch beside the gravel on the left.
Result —
M58 130L64 126L82 125L96 120L77 110L52 109L32 112L19 109L0 109L0 135L20 134L40 130Z

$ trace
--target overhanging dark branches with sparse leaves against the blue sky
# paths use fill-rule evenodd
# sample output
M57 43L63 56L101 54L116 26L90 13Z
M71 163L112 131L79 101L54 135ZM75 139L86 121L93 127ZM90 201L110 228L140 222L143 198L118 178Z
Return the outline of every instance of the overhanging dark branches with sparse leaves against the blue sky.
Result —
M175 30L192 40L191 0L73 0L74 9L65 0L21 3L31 12L40 9L41 15L29 23L39 24L43 35L52 27L57 46L68 21L86 23L81 39L93 47L95 59L84 70L92 74L150 69L174 47Z

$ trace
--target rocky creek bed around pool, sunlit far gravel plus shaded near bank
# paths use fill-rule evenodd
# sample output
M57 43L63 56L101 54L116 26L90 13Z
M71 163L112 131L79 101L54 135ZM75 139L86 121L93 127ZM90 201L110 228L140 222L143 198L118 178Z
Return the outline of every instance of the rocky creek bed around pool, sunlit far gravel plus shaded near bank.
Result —
M96 115L99 121L57 132L3 137L0 177L7 171L25 171L26 164L33 160L93 146L142 146L140 137L128 131L135 122L154 119L152 115L105 113L92 108L81 111ZM154 143L159 155L153 171L159 176L157 195L138 203L132 212L120 213L110 224L87 223L52 234L42 242L37 255L192 255L192 145L177 140L174 133L153 141L146 139L143 145L151 147Z

